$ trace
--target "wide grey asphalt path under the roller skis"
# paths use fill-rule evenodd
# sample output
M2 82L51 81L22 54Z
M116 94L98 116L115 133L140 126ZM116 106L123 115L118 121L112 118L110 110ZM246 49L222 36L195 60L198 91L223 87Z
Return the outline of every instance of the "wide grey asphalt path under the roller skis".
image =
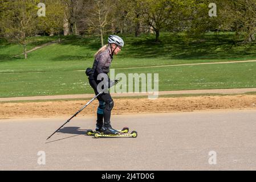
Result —
M256 170L256 110L112 115L137 138L87 136L96 118L76 117L46 140L68 117L1 119L0 170Z

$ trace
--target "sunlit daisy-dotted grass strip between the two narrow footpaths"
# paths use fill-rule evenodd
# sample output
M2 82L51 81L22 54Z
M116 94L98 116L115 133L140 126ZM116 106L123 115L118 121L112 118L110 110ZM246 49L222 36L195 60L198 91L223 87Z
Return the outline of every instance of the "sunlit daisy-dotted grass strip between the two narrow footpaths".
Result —
M242 69L241 69L242 68ZM115 73L159 73L159 91L254 88L256 63L189 65L115 70ZM93 93L84 72L0 74L1 97Z

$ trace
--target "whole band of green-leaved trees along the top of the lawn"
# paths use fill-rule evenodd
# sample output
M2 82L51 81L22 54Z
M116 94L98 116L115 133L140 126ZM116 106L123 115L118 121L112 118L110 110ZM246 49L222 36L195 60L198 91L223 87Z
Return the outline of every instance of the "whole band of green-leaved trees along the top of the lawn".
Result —
M234 31L234 43L254 42L255 0L45 0L46 17L36 17L39 0L0 1L0 36L25 45L38 32L50 35L100 35L186 32L200 37L206 32ZM209 3L216 3L217 17L209 16Z

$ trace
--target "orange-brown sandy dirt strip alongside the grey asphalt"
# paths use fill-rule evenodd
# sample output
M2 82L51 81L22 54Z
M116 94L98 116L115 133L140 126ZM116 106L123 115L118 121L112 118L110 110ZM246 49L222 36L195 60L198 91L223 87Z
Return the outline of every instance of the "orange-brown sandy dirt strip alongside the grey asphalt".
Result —
M73 115L90 100L2 102L0 103L0 119ZM161 97L156 100L149 100L148 98L115 98L114 103L112 114L256 109L256 95ZM79 115L94 115L96 114L97 106L98 102L96 100Z

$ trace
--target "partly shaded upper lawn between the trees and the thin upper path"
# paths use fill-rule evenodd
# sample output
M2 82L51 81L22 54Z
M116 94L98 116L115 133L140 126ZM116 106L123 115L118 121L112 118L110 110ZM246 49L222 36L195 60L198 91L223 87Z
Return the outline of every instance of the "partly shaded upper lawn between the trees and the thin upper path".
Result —
M250 60L256 58L256 46L234 46L233 33L215 36L206 34L201 39L186 38L185 35L162 33L160 43L154 35L123 35L125 47L115 56L112 68L144 67L153 65L209 63L218 61ZM31 38L29 48L38 46L56 37ZM105 38L107 40L107 38ZM68 36L62 43L52 44L23 56L22 46L0 42L0 73L48 72L81 70L92 65L94 53L100 48L98 38Z

